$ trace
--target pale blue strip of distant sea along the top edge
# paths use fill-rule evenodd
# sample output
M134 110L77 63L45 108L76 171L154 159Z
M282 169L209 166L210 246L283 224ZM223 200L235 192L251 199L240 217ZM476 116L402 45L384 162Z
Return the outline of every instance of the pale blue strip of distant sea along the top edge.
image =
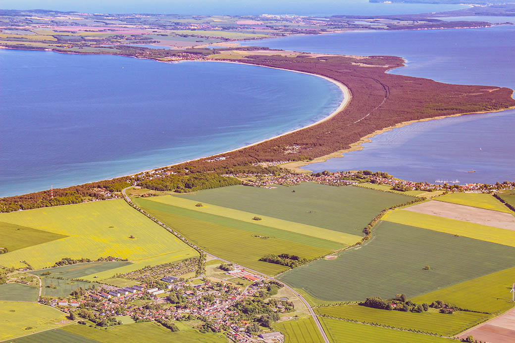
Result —
M0 0L2 9L54 9L90 13L199 15L401 14L463 8L460 5L370 4L368 0Z

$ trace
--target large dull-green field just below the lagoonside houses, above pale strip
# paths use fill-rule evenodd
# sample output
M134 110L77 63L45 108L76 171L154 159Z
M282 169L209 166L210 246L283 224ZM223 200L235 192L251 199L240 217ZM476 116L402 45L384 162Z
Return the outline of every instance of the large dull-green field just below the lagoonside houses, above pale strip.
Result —
M313 182L274 189L220 187L181 197L358 236L363 236L363 228L385 208L415 199L364 187Z

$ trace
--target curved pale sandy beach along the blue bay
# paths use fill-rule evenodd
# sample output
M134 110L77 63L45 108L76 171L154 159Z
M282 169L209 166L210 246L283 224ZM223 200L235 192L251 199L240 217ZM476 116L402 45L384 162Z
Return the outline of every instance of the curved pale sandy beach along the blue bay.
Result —
M188 162L194 162L194 161L198 161L198 160L202 160L202 159L205 159L205 158L208 158L208 157L212 157L212 156L218 156L218 155L224 155L226 153L230 153L230 152L234 152L234 151L237 151L237 150L241 150L241 149L245 149L245 148L248 148L248 147L251 147L251 146L254 146L254 145L258 145L258 144L261 144L261 143L264 143L264 142L268 142L268 141L271 141L271 140L274 140L274 139L277 139L277 138L280 138L282 136L285 136L287 134L290 134L290 133L294 133L294 132L297 132L297 131L300 131L300 130L304 130L304 129L307 129L307 128L310 128L310 127L313 127L315 125L318 125L318 124L321 124L325 121L328 121L329 119L333 118L335 115L337 115L338 113L340 113L341 111L345 110L345 108L350 104L350 101L352 100L352 93L350 92L349 88L347 88L347 86L339 81L336 81L335 79L332 79L330 77L327 77L327 76L323 76L323 75L318 75L318 74L313 74L313 73L306 73L306 72L301 72L301 71L296 71L296 70L291 70L291 69L285 69L285 68L276 68L276 67L271 67L271 66L267 66L267 65L258 65L258 64L251 64L251 63L242 63L242 62L234 62L234 61L217 61L217 60L209 60L209 61L178 61L178 62L175 62L175 63L183 63L183 62L219 62L219 63L235 63L235 64L244 64L244 65L252 65L252 66L258 66L258 67L264 67L264 68L271 68L271 69L277 69L277 70L285 70L285 71L288 71L288 72L294 72L294 73L301 73L301 74L306 74L306 75L313 75L313 76L317 76L317 77L320 77L320 78L323 78L325 80L328 80L334 84L336 84L338 86L338 88L341 90L341 93L344 94L344 99L341 101L340 105L338 106L338 108L336 108L333 112L331 112L328 116L325 116L323 117L322 119L320 119L319 121L315 122L315 123L312 123L310 125L306 125L306 126L303 126L301 128L298 128L298 129L295 129L295 130L290 130L288 132L285 132L285 133L281 133L281 134L278 134L276 136L273 136L271 138L267 138L267 139L264 139L264 140L261 140L259 142L255 142L255 143L251 143L251 144L248 144L248 145L245 145L245 146L242 146L242 147L239 147L239 148L235 148L235 149L232 149L232 150L228 150L228 151L224 151L224 152L219 152L219 153L215 153L214 155L209 155L209 156L203 156L203 157L199 157L199 158L196 158L196 159L192 159L192 160L187 160L187 161L182 161L182 162L177 162L177 163L174 163L174 164L169 164L169 165L165 165L165 166L160 166L160 167L155 167L155 168L152 168L152 169L147 169L147 170L143 170L143 171L138 171L138 173L134 173L134 174L129 174L129 175L122 175L122 176L117 176L117 177L113 177L112 179L116 179L116 178L120 178L120 177L125 177L125 176L133 176L133 175L138 175L138 174L141 174L141 173L147 173L148 171L152 171L152 170L156 170L156 169L161 169L161 168L169 168L169 167L173 167L175 165L178 165L178 164L182 164L182 163L188 163ZM91 182L96 182L96 181L91 181Z

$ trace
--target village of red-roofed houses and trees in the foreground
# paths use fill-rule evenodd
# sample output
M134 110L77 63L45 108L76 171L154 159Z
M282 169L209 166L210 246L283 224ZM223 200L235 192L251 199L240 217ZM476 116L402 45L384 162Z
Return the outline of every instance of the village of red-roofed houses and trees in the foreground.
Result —
M293 303L270 298L281 285L238 265L224 272L228 279L203 275L185 279L183 276L191 275L198 266L197 260L147 266L121 275L134 280L132 286L101 284L76 289L69 297L42 297L40 302L90 327L106 328L130 318L131 322L151 321L178 331L176 323L180 321L200 332L224 333L234 342L284 341L283 334L270 328L281 320L280 314L294 311Z

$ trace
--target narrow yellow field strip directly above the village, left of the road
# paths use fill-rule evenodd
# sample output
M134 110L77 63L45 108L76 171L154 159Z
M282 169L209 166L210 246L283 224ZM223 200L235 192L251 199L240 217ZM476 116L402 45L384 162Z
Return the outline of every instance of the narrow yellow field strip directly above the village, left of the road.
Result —
M160 264L177 262L185 259L190 259L198 256L198 252L196 250L188 247L184 250L179 250L159 256L152 256L151 258L135 260L134 263L114 269L109 269L105 271L95 272L90 275L86 275L81 277L81 279L88 281L97 281L111 279L115 274L124 274L134 270L142 269L145 266L158 266Z

